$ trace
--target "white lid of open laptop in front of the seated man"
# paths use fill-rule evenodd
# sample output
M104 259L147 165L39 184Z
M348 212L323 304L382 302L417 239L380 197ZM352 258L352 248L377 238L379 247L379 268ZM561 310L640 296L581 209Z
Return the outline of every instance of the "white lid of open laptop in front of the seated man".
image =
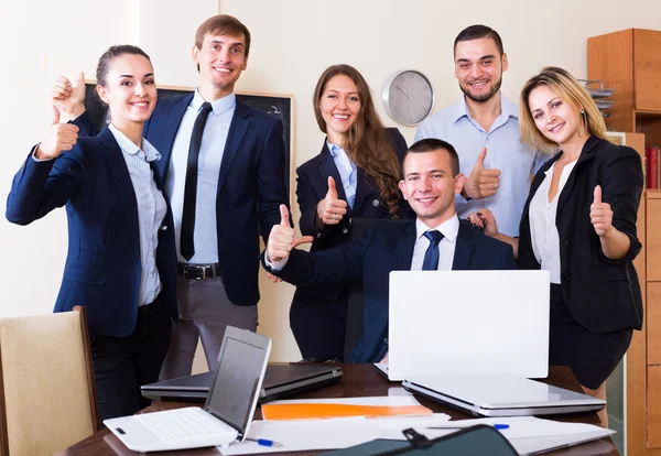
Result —
M549 374L548 271L390 273L388 378Z

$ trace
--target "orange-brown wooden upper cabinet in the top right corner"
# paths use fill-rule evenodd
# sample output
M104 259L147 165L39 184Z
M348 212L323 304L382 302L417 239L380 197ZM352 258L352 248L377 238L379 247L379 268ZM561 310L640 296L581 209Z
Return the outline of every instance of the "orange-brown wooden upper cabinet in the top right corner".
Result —
M606 124L661 145L661 31L629 29L587 40L587 78L615 89Z

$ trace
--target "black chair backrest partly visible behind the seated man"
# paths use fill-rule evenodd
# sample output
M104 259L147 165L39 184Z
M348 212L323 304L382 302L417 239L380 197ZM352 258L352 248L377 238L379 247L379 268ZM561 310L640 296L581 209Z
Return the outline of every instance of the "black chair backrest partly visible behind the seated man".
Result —
M378 218L351 218L351 241L360 239L375 225L401 226L404 229L411 220L388 220ZM345 361L350 358L351 351L360 337L362 337L362 284L353 283L349 287L347 304L347 323L345 326Z

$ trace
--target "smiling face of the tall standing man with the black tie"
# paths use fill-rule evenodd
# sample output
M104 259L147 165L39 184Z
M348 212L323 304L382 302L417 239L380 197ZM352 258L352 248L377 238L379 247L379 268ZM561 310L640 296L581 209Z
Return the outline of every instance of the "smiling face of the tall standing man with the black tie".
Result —
M248 66L246 41L240 35L205 35L202 48L193 46L193 59L199 66L199 89L207 101L234 91L241 72Z

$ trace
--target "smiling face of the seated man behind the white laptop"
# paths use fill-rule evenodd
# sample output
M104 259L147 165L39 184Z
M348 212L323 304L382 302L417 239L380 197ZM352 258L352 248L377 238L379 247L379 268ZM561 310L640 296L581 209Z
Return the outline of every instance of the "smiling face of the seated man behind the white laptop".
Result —
M449 153L444 149L411 152L403 165L400 189L418 218L436 228L456 214L455 195L462 192L465 176L453 176Z

